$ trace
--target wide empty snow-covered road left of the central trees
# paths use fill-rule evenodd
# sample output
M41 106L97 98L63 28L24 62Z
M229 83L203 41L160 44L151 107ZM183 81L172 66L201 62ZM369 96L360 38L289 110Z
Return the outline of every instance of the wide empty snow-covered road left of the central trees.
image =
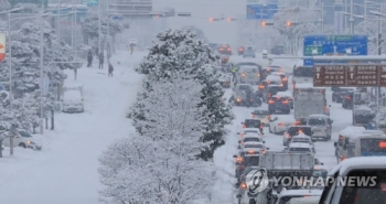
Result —
M98 203L100 189L97 158L114 140L133 131L126 112L141 88L133 71L144 53L118 52L114 77L107 66L78 71L84 84L85 112L55 115L55 130L45 130L41 152L14 149L0 159L1 204ZM118 64L120 62L120 64ZM67 73L73 80L73 73Z

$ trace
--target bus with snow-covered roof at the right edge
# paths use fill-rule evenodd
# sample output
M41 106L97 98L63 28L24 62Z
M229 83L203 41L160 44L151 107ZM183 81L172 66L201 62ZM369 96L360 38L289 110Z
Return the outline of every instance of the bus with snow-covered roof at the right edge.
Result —
M355 157L386 155L386 135L379 130L357 127L352 133L339 136L334 142L337 163Z

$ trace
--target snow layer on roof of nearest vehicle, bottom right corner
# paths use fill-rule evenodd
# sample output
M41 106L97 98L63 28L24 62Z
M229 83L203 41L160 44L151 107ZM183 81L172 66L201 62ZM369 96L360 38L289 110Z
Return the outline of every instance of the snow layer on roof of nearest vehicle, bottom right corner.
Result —
M358 157L343 160L339 163L330 173L339 171L340 175L343 175L349 169L365 169L371 170L372 168L386 169L386 157ZM331 175L329 173L329 175Z

